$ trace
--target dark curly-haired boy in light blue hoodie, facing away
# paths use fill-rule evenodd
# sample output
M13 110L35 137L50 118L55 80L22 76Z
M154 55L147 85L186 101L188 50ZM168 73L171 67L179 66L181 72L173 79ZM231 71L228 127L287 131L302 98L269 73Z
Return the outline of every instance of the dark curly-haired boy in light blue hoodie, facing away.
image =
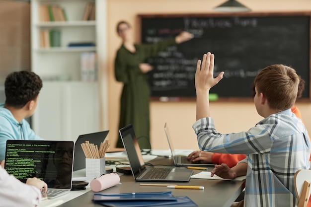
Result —
M0 104L0 161L4 159L7 139L42 139L25 120L34 113L41 88L42 80L34 72L16 71L7 75L5 103Z

